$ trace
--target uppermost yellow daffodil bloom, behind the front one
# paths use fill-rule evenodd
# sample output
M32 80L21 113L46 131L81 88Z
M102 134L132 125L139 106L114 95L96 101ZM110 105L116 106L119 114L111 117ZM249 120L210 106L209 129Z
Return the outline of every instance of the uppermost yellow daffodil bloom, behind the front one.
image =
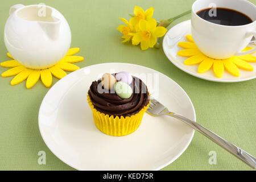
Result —
M154 13L154 8L150 7L146 11L144 11L141 7L135 6L134 7L134 17L130 19L131 24L134 24L135 30L139 31L139 22L143 20L150 20L152 19Z

